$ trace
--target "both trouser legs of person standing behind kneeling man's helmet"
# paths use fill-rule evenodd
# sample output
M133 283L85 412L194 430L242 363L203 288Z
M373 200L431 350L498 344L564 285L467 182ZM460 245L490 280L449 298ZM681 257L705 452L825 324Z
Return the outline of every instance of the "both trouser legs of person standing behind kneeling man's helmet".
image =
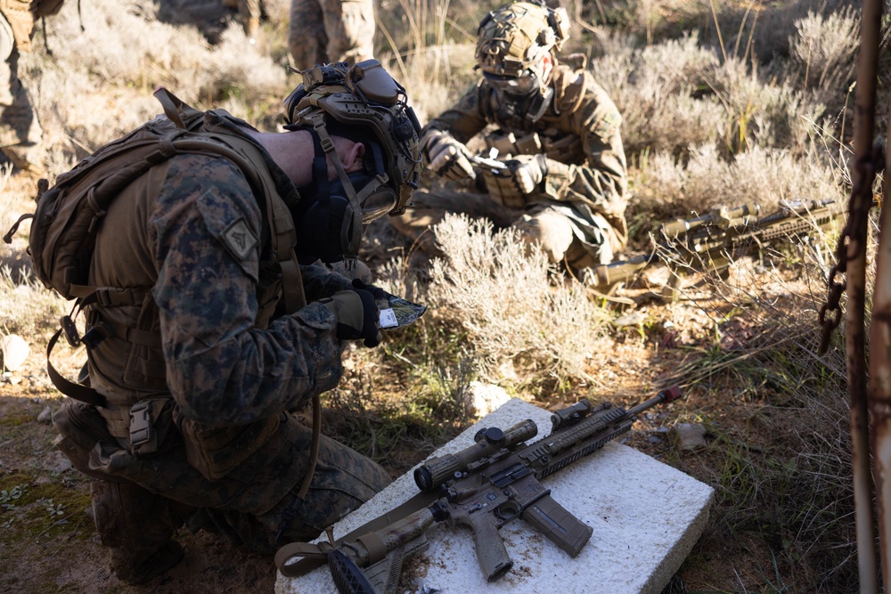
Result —
M373 0L291 0L288 47L298 69L374 55Z

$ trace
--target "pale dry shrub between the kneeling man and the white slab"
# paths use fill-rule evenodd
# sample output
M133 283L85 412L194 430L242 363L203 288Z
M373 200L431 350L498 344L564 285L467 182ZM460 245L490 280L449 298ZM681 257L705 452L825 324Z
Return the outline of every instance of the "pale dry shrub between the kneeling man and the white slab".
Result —
M588 378L585 363L609 315L584 286L564 283L544 253L527 253L515 232L493 232L488 222L446 216L436 239L446 259L433 262L427 297L468 330L490 378L504 362L525 363L526 373Z

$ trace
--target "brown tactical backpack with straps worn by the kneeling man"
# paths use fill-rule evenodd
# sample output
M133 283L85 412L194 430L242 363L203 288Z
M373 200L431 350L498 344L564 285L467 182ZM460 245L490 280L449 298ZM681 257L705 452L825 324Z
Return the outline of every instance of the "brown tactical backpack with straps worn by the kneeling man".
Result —
M72 312L61 319L61 329L47 345L47 373L62 394L98 406L104 404L102 395L82 383L63 378L53 368L50 354L62 333L72 346L94 346L93 341L98 337L91 336L93 330L79 336L73 319L87 305L113 303L115 299L124 298L130 290L89 285L96 234L111 201L129 183L159 163L178 154L201 154L222 156L239 167L254 195L261 201L259 206L264 212L268 235L282 272L284 311L295 312L306 303L293 248L296 235L290 213L275 191L273 181L268 176L258 175L257 167L251 164L252 160L262 162L260 150L235 134L202 132L205 113L186 105L167 89L159 88L155 97L164 107L167 118L154 118L119 140L106 144L68 173L60 175L52 188L46 180L40 180L34 214L21 216L4 236L4 241L10 243L19 224L34 218L28 251L35 275L48 289L66 299L76 300ZM262 314L271 316L272 312Z

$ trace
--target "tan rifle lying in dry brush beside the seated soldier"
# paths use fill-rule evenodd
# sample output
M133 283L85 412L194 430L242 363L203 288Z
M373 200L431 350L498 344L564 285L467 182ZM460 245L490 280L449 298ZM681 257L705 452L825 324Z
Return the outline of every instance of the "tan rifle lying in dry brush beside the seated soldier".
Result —
M760 216L761 207L754 203L716 207L704 216L660 225L652 253L596 266L593 285L605 289L629 281L658 262L667 264L673 273L683 269L717 272L740 256L789 241L808 244L822 259L814 234L830 231L844 222L846 214L846 204L832 199L784 201L767 216Z

